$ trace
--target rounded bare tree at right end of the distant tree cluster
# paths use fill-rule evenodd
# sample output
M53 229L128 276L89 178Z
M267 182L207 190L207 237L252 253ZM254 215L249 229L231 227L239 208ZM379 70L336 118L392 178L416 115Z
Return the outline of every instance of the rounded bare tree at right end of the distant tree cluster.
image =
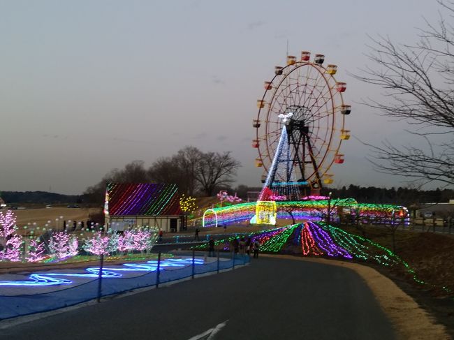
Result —
M207 152L200 156L196 168L196 181L205 195L212 196L217 187L231 184L240 162L230 156L230 151L219 154Z

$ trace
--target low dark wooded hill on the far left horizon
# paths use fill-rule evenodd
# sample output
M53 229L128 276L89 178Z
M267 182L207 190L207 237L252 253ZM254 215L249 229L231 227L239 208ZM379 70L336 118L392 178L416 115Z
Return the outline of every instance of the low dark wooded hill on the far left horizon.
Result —
M1 191L0 197L7 205L15 203L58 204L82 202L83 195L63 195L46 191Z

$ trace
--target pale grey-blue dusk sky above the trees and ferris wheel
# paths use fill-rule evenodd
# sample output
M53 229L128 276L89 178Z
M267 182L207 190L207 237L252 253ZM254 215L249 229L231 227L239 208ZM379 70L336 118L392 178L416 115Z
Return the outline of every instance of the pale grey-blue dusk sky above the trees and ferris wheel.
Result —
M357 103L381 89L347 73L368 65L367 35L416 43L438 10L435 0L0 1L0 191L78 194L185 145L232 151L236 184L260 186L252 119L287 40L289 54L325 54L347 82L353 138L333 185L405 185L374 172L356 138L408 144L407 125Z

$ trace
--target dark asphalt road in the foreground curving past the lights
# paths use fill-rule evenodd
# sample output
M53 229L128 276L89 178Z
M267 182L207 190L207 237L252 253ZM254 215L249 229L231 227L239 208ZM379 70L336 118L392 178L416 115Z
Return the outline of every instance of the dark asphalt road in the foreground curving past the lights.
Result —
M226 320L214 339L395 339L355 272L276 258L10 327L0 339L187 340Z

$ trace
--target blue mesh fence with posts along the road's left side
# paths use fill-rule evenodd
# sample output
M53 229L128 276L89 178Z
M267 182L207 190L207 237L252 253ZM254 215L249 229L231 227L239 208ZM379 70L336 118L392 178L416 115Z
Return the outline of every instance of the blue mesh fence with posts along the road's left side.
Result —
M147 263L138 263L136 265L127 264L126 266L128 267L112 267L105 264L101 279L101 297L124 293L137 288L159 286L163 283L186 279L198 274L218 272L219 270L230 269L237 265L247 264L250 261L249 256L233 257L228 253L221 253L221 256L217 258L208 258L208 261L205 261L204 258L200 256L195 258L186 256L185 265L181 265L181 267L175 267L175 265L171 264L166 265L166 260L163 260L159 266L159 274L156 270L156 260ZM94 268L91 267L90 269ZM99 272L99 268L96 268L96 270ZM78 271L80 272L80 269ZM72 272L75 271L73 270ZM38 276L38 279L43 280L46 278L54 279L59 276L68 279L68 276L72 277L71 275L78 275L78 278L85 275L83 279L89 278L88 282L75 285L73 281L68 280L71 282L71 286L68 286L68 288L64 288L64 284L55 284L51 288L50 286L52 285L49 284L47 286L32 286L29 284L24 289L23 286L11 284L10 286L13 286L13 288L9 289L10 295L0 295L0 320L61 309L100 297L98 295L99 279L96 279L96 274L93 274L93 270L91 272L92 274L68 274L68 271L61 271L60 274L58 272L35 274ZM142 272L144 274L141 274ZM112 273L122 274L120 276L118 274L114 276ZM128 277L128 274L133 274L134 276ZM8 282L31 283L32 281L0 281L0 287L3 292L5 291L4 288L8 288ZM17 293L14 293L15 289ZM48 291L49 289L54 290ZM27 290L30 293L24 294ZM40 290L42 293L39 293Z

